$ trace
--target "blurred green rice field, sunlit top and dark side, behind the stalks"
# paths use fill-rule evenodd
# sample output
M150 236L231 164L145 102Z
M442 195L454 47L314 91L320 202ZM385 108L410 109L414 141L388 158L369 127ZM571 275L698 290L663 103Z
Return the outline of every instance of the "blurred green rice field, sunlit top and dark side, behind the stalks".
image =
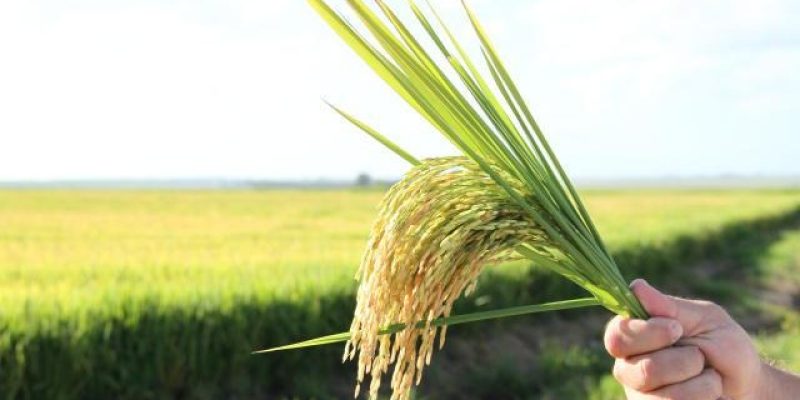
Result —
M0 191L0 396L324 398L321 376L341 375L338 348L248 351L348 325L381 196ZM623 273L654 281L800 219L800 191L589 191L585 200ZM796 249L784 247L774 252ZM764 275L786 274L763 264L772 265ZM554 282L501 266L476 296L494 307L579 293Z

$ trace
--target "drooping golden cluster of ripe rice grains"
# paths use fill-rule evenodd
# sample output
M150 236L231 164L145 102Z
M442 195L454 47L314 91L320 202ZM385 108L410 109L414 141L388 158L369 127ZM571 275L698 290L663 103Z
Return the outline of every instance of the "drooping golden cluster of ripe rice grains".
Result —
M520 193L524 185L504 174ZM535 203L535 202L534 202ZM469 294L485 265L520 243L552 247L545 233L481 168L465 157L423 161L386 194L357 274L360 279L345 359L358 353L358 385L370 374L370 398L390 364L392 399L406 399L430 363L436 327L419 321L448 316ZM412 328L378 335L391 324ZM446 327L438 328L440 346Z

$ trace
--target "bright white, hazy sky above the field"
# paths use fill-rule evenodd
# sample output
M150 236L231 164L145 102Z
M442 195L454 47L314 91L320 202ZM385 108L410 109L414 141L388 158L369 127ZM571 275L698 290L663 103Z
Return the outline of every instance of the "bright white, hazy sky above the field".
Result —
M475 44L457 2L433 3ZM471 4L570 175L800 175L800 2ZM454 153L304 1L0 2L0 180L408 168L323 99L418 157Z

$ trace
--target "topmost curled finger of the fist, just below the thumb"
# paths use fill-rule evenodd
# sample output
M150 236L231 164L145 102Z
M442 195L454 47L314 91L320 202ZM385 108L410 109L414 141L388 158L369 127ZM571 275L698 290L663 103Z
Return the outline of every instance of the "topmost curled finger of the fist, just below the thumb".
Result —
M611 356L625 358L671 346L682 334L683 328L674 319L615 317L608 323L603 341Z

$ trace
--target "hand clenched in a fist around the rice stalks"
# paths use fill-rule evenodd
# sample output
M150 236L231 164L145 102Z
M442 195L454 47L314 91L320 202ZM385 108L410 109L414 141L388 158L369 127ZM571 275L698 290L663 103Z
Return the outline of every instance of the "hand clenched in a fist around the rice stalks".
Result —
M761 400L766 371L747 332L722 307L631 288L649 320L616 317L605 345L629 400ZM772 397L769 397L772 398Z

